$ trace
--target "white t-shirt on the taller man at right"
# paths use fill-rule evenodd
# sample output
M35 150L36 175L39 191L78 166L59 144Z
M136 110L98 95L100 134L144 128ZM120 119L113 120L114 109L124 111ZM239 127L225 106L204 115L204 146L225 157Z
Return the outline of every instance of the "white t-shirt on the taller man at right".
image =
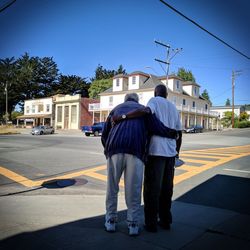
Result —
M149 100L147 106L151 112L167 127L181 130L179 112L174 104L167 99L156 96ZM176 152L176 140L161 136L152 136L149 145L149 155L173 157Z

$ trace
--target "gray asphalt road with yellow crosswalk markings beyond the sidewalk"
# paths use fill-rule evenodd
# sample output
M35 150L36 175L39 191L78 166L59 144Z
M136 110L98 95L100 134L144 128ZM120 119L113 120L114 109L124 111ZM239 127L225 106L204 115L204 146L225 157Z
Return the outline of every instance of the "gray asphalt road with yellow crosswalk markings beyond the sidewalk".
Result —
M175 199L216 175L249 178L250 129L184 134L181 158ZM0 195L104 194L105 163L100 137L2 135Z

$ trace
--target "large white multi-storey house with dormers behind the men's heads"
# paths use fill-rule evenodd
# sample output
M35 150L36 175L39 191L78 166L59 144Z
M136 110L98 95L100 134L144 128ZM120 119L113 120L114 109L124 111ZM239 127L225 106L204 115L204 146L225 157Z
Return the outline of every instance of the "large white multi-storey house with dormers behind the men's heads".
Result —
M129 75L116 75L113 77L113 86L100 93L100 106L92 104L89 111L93 112L93 116L99 112L100 121L104 121L109 112L124 101L125 95L132 92L136 92L139 102L146 105L154 96L154 88L158 84L167 84L168 99L180 112L184 128L202 125L205 129L214 129L214 124L218 128L218 113L212 112L210 102L200 96L200 85L183 81L175 75L168 77L168 83L166 76L157 77L141 71Z

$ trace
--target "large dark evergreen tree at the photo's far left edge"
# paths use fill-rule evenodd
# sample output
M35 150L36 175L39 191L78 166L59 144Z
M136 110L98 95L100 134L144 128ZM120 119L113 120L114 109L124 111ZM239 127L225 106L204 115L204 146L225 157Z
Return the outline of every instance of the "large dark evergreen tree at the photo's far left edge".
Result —
M24 100L50 96L57 77L57 65L50 57L30 57L25 53L17 60L0 59L0 116L6 109L6 87L11 114L17 104L23 107Z

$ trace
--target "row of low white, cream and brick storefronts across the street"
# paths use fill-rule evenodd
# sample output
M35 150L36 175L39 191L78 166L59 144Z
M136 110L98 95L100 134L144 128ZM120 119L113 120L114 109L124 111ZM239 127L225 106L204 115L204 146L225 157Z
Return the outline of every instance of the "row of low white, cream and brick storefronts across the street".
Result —
M17 117L17 125L23 120L24 126L49 125L56 129L80 129L92 125L89 104L97 100L77 95L55 95L47 98L24 101L24 115Z

